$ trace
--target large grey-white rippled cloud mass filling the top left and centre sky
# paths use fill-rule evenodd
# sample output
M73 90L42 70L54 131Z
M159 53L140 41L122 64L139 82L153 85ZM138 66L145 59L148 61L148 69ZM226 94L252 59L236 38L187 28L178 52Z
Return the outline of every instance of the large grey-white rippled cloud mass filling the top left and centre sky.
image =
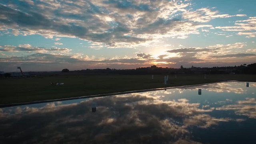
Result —
M32 1L26 0L32 4ZM0 26L15 35L76 37L109 48L136 47L162 38L187 38L211 25L179 19L189 2L36 1L0 4ZM59 40L56 38L55 40Z

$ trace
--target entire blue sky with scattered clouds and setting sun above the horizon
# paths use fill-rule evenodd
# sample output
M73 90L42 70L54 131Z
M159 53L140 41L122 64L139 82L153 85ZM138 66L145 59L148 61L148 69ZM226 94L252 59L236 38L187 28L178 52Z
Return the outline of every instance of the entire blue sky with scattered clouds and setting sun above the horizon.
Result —
M1 0L0 71L256 62L256 0Z

